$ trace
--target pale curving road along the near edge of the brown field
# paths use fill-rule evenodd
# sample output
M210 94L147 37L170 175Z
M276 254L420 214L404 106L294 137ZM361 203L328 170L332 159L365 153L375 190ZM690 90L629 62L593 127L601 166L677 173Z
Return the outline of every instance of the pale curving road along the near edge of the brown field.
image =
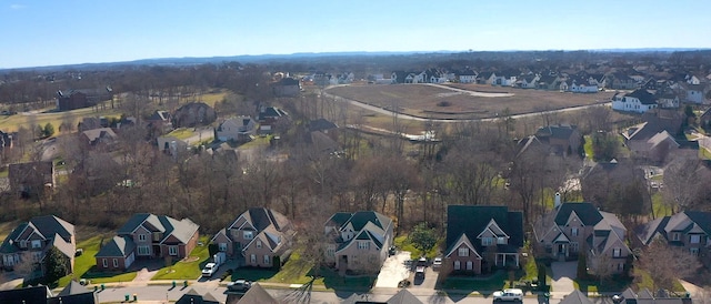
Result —
M449 87L444 87L442 85L442 88L444 89L449 89L452 91L457 91L457 90L461 90L461 89L452 89ZM328 89L327 89L328 90ZM357 100L352 100L352 99L346 99L342 97L338 97L338 95L333 95L329 92L327 92L326 90L323 91L323 94L328 98L331 98L336 101L340 101L340 102L347 102L349 104L353 104L360 108L363 108L365 110L370 110L380 114L385 114L385 115L393 115L393 114L398 114L399 119L407 119L407 120L414 120L414 121L432 121L432 122L458 122L458 121L483 121L483 122L491 122L491 121L497 121L500 118L488 118L488 119L428 119L428 118L420 118L420 116L413 116L413 115L409 115L409 114L403 114L403 113L395 113L391 110L388 109L383 109L380 107L374 107L374 105L370 105ZM550 111L540 111L540 112L532 112L532 113L523 113L523 114L515 114L515 115L511 115L512 119L521 119L521 118L530 118L530 116L535 116L535 115L541 115L544 113L563 113L563 112L570 112L570 111L577 111L577 110L583 110L583 109L590 109L590 108L595 108L595 107L602 107L602 105L611 105L611 102L605 102L605 103L598 103L598 104L588 104L588 105L579 105L579 107L571 107L571 108L565 108L565 109L559 109L559 110L550 110Z

